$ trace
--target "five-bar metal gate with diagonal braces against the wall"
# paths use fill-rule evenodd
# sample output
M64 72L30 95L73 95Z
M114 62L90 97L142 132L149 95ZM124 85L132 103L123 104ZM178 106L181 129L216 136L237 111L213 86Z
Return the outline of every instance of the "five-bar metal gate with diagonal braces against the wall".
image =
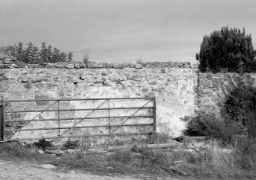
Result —
M155 131L155 98L4 100L0 104L2 142Z

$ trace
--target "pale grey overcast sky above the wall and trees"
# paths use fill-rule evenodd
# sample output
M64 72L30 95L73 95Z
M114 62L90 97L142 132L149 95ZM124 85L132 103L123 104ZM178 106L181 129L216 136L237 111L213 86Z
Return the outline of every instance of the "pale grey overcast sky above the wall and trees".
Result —
M0 0L0 46L41 42L83 61L196 63L203 36L245 27L256 49L255 0Z

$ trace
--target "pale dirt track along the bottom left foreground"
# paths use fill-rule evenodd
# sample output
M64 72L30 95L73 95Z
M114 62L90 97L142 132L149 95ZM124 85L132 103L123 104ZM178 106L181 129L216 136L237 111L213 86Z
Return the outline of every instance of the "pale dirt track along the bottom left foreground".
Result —
M34 180L34 179L45 179L45 180L82 180L82 179L114 179L114 180L135 180L135 179L162 179L162 178L151 178L151 177L132 177L132 176L108 176L108 175L92 175L86 172L69 171L63 172L56 169L45 169L38 164L30 164L28 162L6 162L0 159L0 179L4 180ZM165 178L178 180L178 178Z

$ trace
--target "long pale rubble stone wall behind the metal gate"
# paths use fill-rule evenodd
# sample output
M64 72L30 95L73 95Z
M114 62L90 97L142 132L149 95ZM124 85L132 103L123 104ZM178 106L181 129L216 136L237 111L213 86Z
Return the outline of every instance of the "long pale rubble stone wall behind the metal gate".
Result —
M163 66L160 65L159 66ZM124 69L1 69L0 96L2 99L38 98L118 98L157 97L157 132L181 135L186 123L180 118L194 116L198 111L196 92L197 69L180 68L124 68ZM131 102L136 104L138 102ZM144 102L140 102L144 103ZM7 108L47 108L47 104L8 104ZM117 105L118 104L114 104ZM72 102L62 104L64 108L89 107L89 104ZM91 106L96 107L96 103ZM70 111L72 117L79 112ZM122 114L122 113L120 113ZM10 114L15 118L29 119L33 113ZM38 118L54 118L57 114L44 113ZM56 127L57 124L51 124ZM81 124L83 125L83 124ZM42 127L42 123L27 127ZM49 126L49 124L48 124ZM87 132L88 133L88 132ZM97 133L104 133L99 130ZM28 133L16 133L18 137L29 137Z

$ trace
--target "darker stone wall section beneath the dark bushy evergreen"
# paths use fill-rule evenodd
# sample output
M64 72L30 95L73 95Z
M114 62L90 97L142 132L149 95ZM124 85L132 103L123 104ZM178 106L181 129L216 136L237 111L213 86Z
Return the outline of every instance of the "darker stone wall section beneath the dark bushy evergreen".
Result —
M227 95L238 86L239 81L256 87L256 74L237 73L199 73L199 111L219 114Z

